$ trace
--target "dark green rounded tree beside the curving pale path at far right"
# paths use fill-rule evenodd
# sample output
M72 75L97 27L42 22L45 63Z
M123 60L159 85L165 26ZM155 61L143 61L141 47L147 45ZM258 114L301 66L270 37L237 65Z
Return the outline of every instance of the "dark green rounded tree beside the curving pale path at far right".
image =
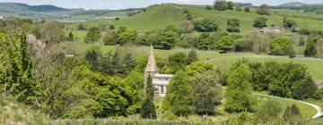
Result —
M310 77L307 77L306 79L302 79L301 83L299 83L299 85L294 88L292 97L299 100L307 99L311 96L314 96L317 90L318 87L315 84L314 80Z

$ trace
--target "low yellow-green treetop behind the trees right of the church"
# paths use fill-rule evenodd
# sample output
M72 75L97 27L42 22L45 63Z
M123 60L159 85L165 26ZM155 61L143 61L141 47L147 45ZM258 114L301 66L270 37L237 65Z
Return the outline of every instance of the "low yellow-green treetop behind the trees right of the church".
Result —
M193 77L203 72L214 71L214 65L211 63L202 62L191 63L185 68L185 71L188 73L189 76Z

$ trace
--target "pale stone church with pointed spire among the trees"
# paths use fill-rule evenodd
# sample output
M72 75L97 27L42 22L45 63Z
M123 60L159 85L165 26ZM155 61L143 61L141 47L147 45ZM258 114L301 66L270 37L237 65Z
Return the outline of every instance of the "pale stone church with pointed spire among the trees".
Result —
M171 74L160 74L153 54L153 46L151 46L147 67L144 70L144 86L149 75L153 79L153 87L155 96L166 96L166 87L173 77Z

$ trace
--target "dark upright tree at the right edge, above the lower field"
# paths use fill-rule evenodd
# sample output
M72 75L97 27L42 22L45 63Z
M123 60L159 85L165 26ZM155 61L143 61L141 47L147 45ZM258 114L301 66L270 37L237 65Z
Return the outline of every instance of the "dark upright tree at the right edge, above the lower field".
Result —
M304 54L306 57L317 57L317 42L319 41L318 37L309 37L308 43L306 44L306 48L304 50Z

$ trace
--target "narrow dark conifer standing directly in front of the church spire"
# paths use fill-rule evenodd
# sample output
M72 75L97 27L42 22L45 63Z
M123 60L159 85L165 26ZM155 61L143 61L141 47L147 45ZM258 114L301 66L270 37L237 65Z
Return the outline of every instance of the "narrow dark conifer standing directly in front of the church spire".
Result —
M156 119L156 107L153 104L153 79L149 75L148 80L145 87L145 99L144 103L142 104L141 110L141 117L144 119Z

